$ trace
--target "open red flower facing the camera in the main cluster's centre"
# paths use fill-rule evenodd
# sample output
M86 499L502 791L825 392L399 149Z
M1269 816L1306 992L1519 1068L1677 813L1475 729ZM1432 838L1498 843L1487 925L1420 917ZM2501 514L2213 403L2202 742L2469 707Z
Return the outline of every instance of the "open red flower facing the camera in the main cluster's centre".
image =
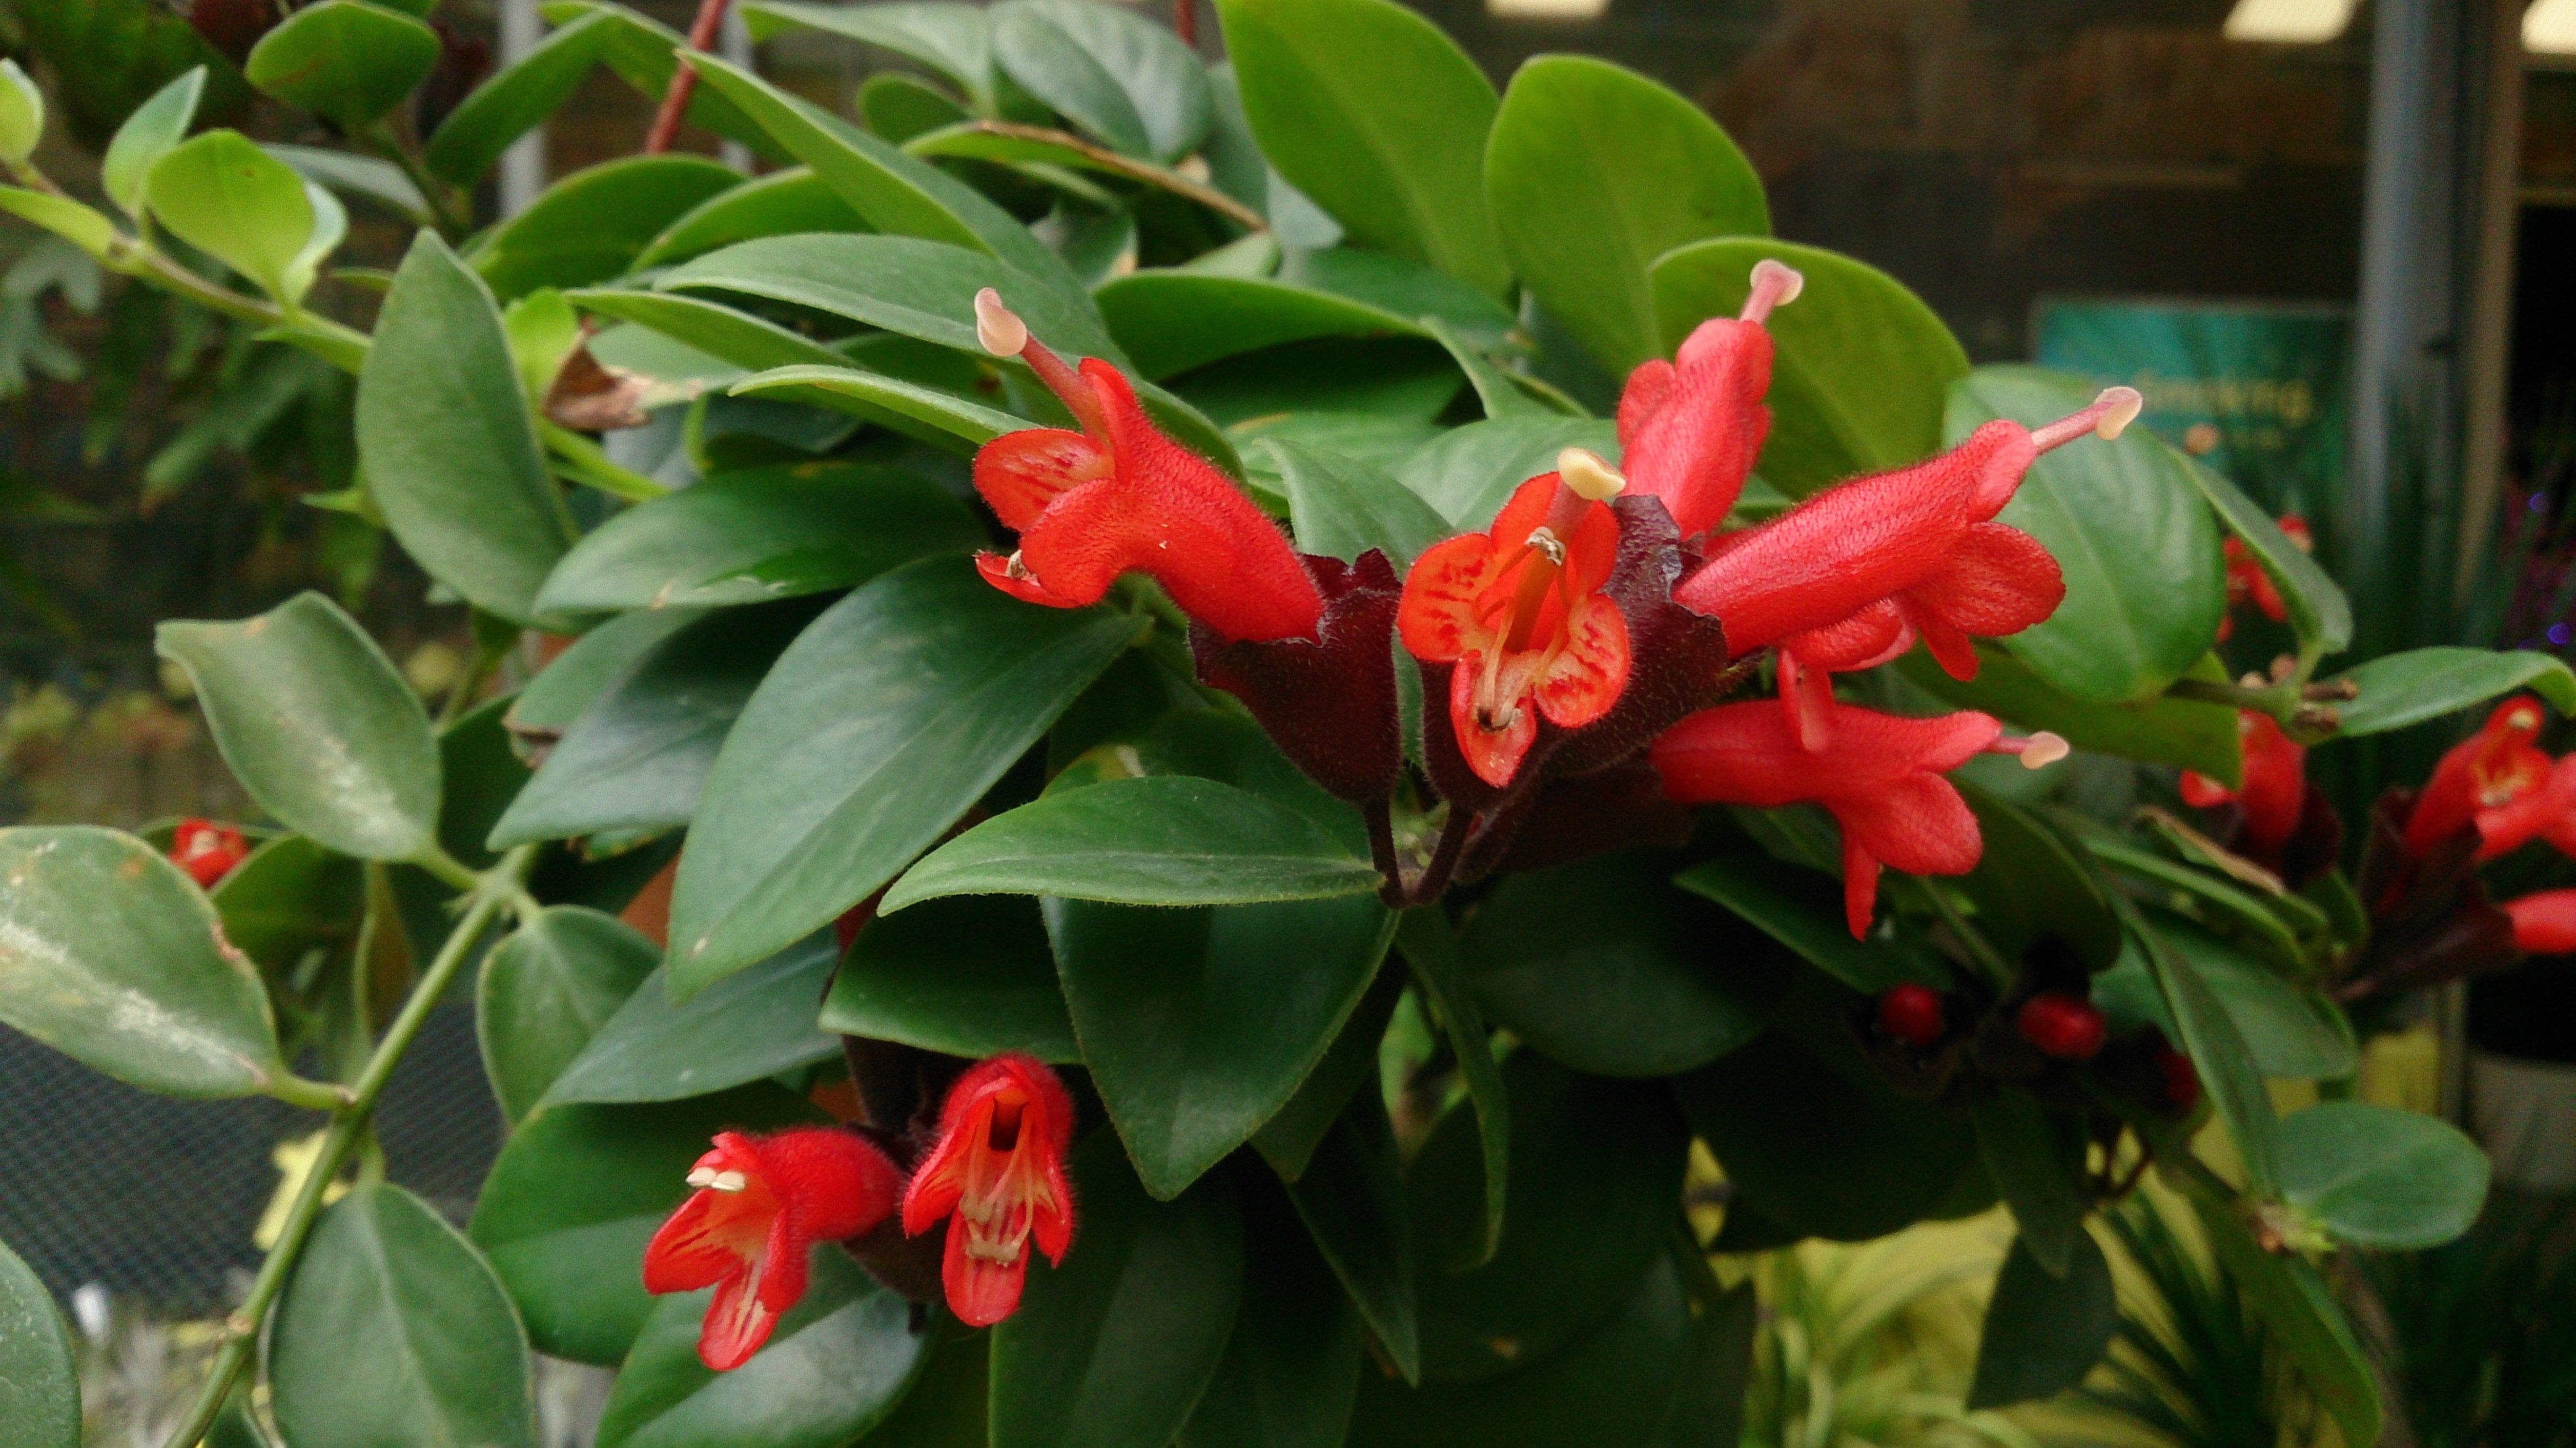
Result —
M1556 464L1522 482L1492 528L1414 559L1396 605L1404 649L1425 665L1455 665L1450 732L1492 786L1512 783L1538 739L1538 714L1579 729L1610 714L1628 685L1628 621L1605 593L1620 538L1607 500L1623 482L1582 448Z

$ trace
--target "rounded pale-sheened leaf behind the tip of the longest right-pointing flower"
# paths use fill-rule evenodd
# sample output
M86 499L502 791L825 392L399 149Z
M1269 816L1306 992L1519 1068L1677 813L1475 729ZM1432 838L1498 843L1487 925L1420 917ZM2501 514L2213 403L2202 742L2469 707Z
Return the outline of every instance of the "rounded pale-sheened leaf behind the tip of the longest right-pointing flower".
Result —
M2076 376L1978 368L1950 389L1945 435L1960 441L1991 417L2038 428L2092 397ZM1994 518L2038 538L2066 575L2058 611L2004 639L2030 672L2076 698L2120 703L2164 691L2210 652L2228 603L2226 567L2218 520L2190 472L2190 459L2146 428L2076 438L2030 464Z

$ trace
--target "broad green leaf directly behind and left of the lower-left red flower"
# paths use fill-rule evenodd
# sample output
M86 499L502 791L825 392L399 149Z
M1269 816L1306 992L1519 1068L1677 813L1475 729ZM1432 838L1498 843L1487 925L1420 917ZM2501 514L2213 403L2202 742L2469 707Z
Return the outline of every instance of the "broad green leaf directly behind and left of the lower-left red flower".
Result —
M549 1105L510 1134L466 1232L538 1353L616 1366L652 1314L644 1242L688 1198L690 1162L716 1131L811 1121L822 1113L773 1085L659 1105Z

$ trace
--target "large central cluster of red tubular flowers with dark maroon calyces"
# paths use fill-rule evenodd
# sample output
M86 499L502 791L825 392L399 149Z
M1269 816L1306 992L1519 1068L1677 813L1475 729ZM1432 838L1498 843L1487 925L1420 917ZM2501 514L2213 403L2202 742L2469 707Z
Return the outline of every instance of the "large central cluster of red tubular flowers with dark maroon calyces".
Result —
M976 296L987 350L1025 363L1077 428L1030 428L976 453L974 484L1010 554L979 569L1012 598L1077 608L1139 572L1190 616L1200 678L1244 701L1298 768L1370 819L1391 904L1517 861L1515 837L1641 765L1662 804L1824 804L1844 832L1847 915L1868 933L1883 866L1963 873L1976 817L1940 778L1976 752L2032 768L2066 752L2004 739L1986 714L1899 719L1834 698L1837 672L1922 642L1973 678L1973 639L2048 618L2056 559L1996 523L2030 464L2084 435L2115 438L2133 389L2045 428L1996 420L1924 464L1816 492L1752 528L1728 515L1770 433L1775 307L1801 276L1754 265L1736 317L1703 322L1674 361L1625 384L1625 474L1582 448L1522 482L1494 520L1394 564L1298 554L1211 461L1182 448L1103 361L1069 366L994 291ZM1422 861L1388 824L1404 737L1388 642L1422 675L1422 776L1448 806ZM1723 703L1772 660L1780 703ZM1615 812L1607 812L1615 814ZM1595 819L1589 835L1618 843ZM1631 809L1649 837L1651 809Z

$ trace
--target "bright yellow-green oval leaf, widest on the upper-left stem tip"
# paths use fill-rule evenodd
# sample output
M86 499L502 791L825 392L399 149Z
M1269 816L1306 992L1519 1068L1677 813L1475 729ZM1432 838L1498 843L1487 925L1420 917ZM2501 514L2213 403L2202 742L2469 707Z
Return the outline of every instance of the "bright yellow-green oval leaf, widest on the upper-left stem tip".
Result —
M278 304L312 286L319 216L304 178L240 131L206 131L152 162L144 204L170 234L247 276Z

